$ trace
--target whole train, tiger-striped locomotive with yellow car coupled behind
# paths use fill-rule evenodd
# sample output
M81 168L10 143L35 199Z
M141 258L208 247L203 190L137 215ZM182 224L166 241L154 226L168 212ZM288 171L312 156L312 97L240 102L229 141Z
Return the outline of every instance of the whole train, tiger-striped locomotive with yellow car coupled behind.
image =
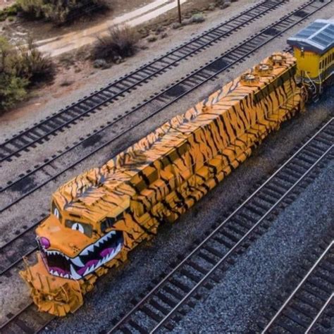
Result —
M333 32L333 23L321 23ZM333 75L333 40L331 49L316 54L300 36L302 32L288 40L295 56L271 54L54 192L50 215L36 229L37 263L26 263L20 271L40 311L56 316L75 312L100 276L154 237L159 225L177 221L270 132L303 112L310 94L321 94L313 85L323 87ZM328 54L331 61L323 63ZM313 61L324 64L326 75L307 70L316 66Z

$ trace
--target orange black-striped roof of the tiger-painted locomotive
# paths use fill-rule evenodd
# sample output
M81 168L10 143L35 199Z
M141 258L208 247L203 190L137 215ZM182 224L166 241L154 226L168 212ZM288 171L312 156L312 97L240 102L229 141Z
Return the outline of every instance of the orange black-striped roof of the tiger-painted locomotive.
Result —
M161 163L171 158L175 147L181 151L183 145L200 128L212 123L224 111L240 103L252 92L275 80L294 63L290 54L287 66L274 70L275 75L262 78L259 85L247 87L240 85L240 78L233 80L186 113L175 116L161 127L142 138L125 151L109 160L100 168L78 175L54 192L54 200L61 210L80 216L89 221L100 221L110 211L118 215L130 205L135 194L135 185L140 184L142 171L149 175L151 170L161 168ZM233 87L233 89L231 89ZM230 104L225 97L233 97ZM209 111L203 109L209 107ZM212 107L212 108L210 108ZM151 170L150 170L151 168Z

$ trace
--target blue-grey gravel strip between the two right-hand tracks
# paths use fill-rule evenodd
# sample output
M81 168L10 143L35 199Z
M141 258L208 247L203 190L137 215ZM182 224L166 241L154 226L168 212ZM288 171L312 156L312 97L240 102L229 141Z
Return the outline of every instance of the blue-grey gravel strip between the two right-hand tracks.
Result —
M247 333L287 279L333 230L334 161L274 221L173 333Z

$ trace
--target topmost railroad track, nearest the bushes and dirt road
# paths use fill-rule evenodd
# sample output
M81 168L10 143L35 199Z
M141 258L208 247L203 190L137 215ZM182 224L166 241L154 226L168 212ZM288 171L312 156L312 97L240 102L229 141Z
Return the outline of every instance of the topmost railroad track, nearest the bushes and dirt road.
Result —
M19 156L21 151L34 148L36 144L47 140L50 135L56 135L63 128L68 128L70 125L77 123L78 120L83 119L84 116L96 113L101 106L117 101L120 97L124 97L124 94L132 92L136 87L155 78L156 75L161 75L166 70L178 66L180 61L198 54L212 44L233 34L241 27L261 18L266 13L287 2L287 0L262 1L230 20L206 30L202 35L190 39L189 42L185 42L179 47L168 51L163 56L154 58L150 63L144 64L137 70L111 82L88 97L84 97L78 102L66 106L65 109L54 113L52 116L41 120L39 123L35 123L32 128L27 128L0 144L0 163L6 160L11 161L14 156Z

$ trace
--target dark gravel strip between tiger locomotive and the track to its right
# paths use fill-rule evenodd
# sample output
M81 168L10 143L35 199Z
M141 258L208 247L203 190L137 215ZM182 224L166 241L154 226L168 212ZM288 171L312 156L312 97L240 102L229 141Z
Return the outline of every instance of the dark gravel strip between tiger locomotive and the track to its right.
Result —
M280 131L264 140L245 163L177 223L161 226L151 242L144 242L130 252L127 264L101 278L94 293L85 296L85 304L73 316L59 318L44 333L99 333L110 329L111 319L127 309L133 297L145 292L153 278L169 271L178 254L187 254L194 240L204 237L231 206L249 194L252 185L273 173L287 159L287 154L314 131L316 124L328 118L333 109L333 92L334 88L330 89L321 103L309 106L307 113L283 124ZM188 328L179 329L189 333Z

